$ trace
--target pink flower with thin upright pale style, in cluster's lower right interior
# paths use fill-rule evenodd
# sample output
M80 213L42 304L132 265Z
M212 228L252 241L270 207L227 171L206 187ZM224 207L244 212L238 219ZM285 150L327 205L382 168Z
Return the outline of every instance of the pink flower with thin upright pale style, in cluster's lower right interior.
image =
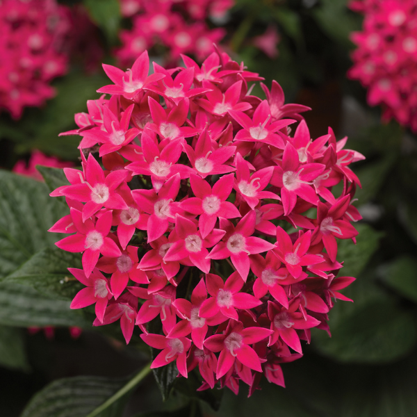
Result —
M306 254L310 247L310 241L311 231L309 230L295 240L293 245L286 231L277 226L277 247L274 253L277 254L281 262L285 263L288 272L294 278L300 277L302 266L315 265L323 261L321 256Z

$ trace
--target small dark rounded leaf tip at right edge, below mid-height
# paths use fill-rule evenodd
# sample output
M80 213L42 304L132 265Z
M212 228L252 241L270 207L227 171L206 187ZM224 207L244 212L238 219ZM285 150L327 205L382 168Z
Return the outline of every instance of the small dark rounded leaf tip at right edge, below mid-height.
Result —
M400 256L390 263L381 265L377 274L397 293L417 302L417 261L414 256Z

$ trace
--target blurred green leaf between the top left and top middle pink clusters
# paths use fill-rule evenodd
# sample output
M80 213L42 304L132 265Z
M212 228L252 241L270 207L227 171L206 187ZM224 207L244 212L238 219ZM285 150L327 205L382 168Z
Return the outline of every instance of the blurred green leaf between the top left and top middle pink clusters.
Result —
M90 17L99 26L111 43L117 40L120 20L120 3L117 0L84 0Z

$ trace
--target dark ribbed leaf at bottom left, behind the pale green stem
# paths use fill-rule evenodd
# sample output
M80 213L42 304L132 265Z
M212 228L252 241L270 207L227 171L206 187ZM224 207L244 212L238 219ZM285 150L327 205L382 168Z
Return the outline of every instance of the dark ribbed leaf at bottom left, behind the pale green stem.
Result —
M85 417L124 386L126 379L74 377L58 379L37 393L20 417ZM124 401L114 402L100 417L120 417Z

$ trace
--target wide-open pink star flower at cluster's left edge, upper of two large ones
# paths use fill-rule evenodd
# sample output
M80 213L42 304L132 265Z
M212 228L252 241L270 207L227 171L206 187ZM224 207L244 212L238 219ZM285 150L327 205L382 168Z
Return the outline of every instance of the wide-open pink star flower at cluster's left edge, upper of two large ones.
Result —
M116 193L116 188L126 179L126 171L113 171L104 177L104 172L92 154L88 155L85 168L85 180L60 190L61 195L79 202L86 202L83 207L83 222L97 213L101 207L108 209L126 209L126 202Z

